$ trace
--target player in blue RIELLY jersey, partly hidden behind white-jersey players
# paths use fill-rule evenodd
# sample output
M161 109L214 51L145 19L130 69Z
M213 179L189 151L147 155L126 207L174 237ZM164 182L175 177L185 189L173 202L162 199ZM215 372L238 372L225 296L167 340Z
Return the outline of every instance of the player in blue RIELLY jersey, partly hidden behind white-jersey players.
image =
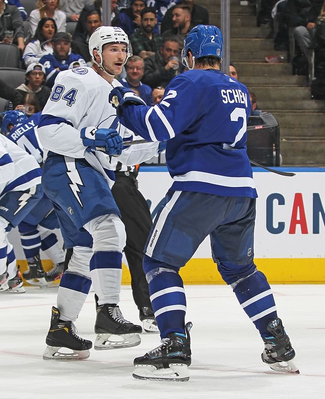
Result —
M21 111L8 111L3 118L2 133L28 154L34 156L42 165L43 147L37 133L40 118L41 112L27 118ZM53 205L46 195L38 206L19 223L20 240L28 263L28 270L23 273L23 277L29 284L57 286L56 281L63 274L65 257L53 232L58 228ZM44 272L40 250L44 251L53 262L53 267L48 272Z

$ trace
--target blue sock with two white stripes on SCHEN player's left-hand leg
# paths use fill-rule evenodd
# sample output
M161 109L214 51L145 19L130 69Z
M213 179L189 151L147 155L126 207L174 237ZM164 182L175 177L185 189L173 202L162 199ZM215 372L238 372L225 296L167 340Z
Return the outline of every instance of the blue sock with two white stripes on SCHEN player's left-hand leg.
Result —
M143 269L161 338L173 332L185 336L186 297L178 271L147 255L143 258Z

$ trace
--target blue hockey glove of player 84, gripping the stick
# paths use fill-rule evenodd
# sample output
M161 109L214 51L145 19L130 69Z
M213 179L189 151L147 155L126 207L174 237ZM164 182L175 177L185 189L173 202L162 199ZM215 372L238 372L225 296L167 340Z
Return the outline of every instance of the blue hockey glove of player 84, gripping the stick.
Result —
M108 155L121 155L123 139L115 129L83 128L80 136L86 147L106 152Z

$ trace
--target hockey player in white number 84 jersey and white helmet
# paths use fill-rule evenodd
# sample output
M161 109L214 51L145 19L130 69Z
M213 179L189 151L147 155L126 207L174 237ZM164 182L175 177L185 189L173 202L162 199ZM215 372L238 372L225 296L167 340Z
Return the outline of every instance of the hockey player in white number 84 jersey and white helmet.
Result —
M118 306L125 231L110 190L110 157L119 156L120 162L132 166L157 155L158 143L122 150L122 140L132 140L133 133L119 124L108 95L121 85L114 76L132 55L128 44L119 27L96 29L89 39L93 67L58 74L39 123L44 191L53 202L66 247L74 248L60 282L57 308L52 308L46 360L89 356L92 343L76 334L73 322L91 283L97 296L94 348L140 343L141 326L125 320ZM112 334L119 335L118 343L111 341ZM62 347L74 353L64 354Z

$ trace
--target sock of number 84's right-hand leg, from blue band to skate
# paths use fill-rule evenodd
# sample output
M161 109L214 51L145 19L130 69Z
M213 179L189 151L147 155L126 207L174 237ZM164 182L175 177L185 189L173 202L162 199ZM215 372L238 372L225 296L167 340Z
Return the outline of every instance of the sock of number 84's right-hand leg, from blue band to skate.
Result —
M118 303L122 278L122 254L116 251L97 251L90 259L89 268L98 304Z

